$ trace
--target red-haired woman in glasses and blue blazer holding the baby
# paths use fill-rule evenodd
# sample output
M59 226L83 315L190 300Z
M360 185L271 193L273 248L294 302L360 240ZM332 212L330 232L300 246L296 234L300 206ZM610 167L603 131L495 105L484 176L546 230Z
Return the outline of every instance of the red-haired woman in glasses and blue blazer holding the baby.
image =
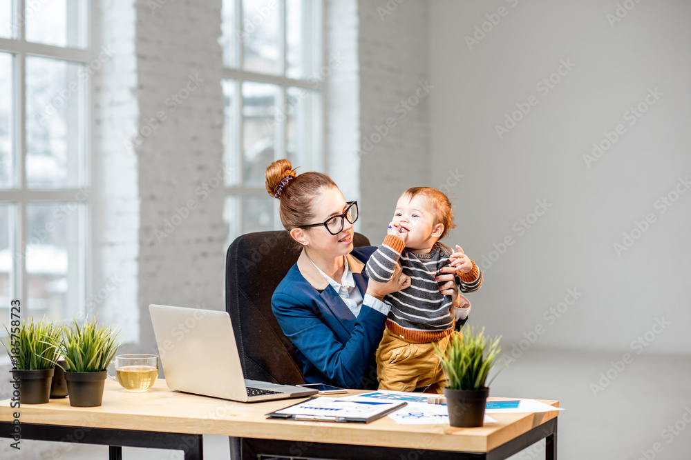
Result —
M297 175L282 159L265 175L267 192L281 200L283 227L303 248L274 291L272 310L305 382L377 388L375 351L390 309L384 296L408 288L410 277L398 266L387 283L368 279L363 268L377 248L353 248L357 202L345 201L326 174ZM439 290L457 292L453 273L439 279Z

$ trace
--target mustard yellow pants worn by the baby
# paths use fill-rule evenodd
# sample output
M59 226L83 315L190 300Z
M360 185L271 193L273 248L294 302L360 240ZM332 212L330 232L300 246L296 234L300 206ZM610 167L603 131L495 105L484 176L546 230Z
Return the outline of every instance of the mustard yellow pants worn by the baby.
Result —
M436 342L415 343L385 328L377 348L379 390L413 391L428 386L426 393L443 394L448 385L432 343L443 352L453 335L463 337L460 332L453 331Z

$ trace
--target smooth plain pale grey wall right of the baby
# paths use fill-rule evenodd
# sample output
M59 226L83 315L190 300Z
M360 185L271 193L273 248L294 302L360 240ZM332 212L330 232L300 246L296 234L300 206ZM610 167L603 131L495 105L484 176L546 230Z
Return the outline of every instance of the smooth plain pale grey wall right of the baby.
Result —
M608 19L618 6L621 21ZM471 323L503 334L508 351L528 335L538 347L691 353L691 192L656 207L691 174L690 17L691 3L669 0L430 2L431 178L464 174L448 242L488 258ZM476 26L487 32L468 46ZM558 83L538 86L549 78ZM500 137L495 125L531 97ZM627 114L646 98L640 118ZM618 124L614 146L587 163ZM542 200L527 228L520 219ZM647 214L654 223L617 253ZM582 292L575 302L569 289ZM658 319L669 324L655 334ZM650 348L632 348L646 332Z

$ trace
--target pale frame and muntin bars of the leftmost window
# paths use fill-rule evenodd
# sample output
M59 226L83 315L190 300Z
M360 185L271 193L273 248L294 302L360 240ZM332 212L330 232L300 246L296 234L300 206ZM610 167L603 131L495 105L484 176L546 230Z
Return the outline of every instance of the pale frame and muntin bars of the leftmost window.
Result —
M93 223L91 219L91 206L93 195L93 161L92 152L94 146L95 120L93 119L93 76L90 76L84 83L84 112L80 116L83 124L79 126L84 130L84 157L82 170L79 172L79 182L82 186L73 188L28 188L26 180L26 59L27 57L42 57L67 61L88 66L88 63L97 59L98 53L95 49L95 37L93 34L95 20L97 19L97 8L90 1L81 1L84 24L84 48L62 48L60 46L46 45L43 43L33 43L26 41L26 0L15 0L12 2L12 26L15 38L0 38L0 52L12 54L12 132L14 138L12 143L12 154L14 156L13 170L15 183L13 188L0 188L0 203L9 203L15 207L13 215L15 225L10 230L10 250L12 254L23 254L23 257L12 257L13 274L10 277L10 299L19 299L21 306L21 317L26 318L32 314L28 301L28 274L26 271L26 246L28 238L26 230L27 207L31 203L59 203L78 201L81 208L77 213L79 231L83 232L83 241L79 244L79 284L77 286L77 299L79 299L78 311L84 312L86 307L86 293L91 289L91 266L92 266L92 240L91 234ZM84 197L77 199L77 194ZM67 222L65 222L68 225ZM67 318L55 318L58 321ZM6 319L1 320L5 323ZM0 338L6 337L4 328L0 330ZM3 357L4 358L4 357ZM0 358L0 364L3 363Z

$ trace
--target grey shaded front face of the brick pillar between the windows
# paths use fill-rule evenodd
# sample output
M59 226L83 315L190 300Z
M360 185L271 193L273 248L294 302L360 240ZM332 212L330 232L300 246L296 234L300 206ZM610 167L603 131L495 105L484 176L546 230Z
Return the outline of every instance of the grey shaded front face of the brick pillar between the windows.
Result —
M135 148L140 348L150 350L150 303L225 309L221 0L168 1L153 12L140 0L136 9L140 132L162 119Z

